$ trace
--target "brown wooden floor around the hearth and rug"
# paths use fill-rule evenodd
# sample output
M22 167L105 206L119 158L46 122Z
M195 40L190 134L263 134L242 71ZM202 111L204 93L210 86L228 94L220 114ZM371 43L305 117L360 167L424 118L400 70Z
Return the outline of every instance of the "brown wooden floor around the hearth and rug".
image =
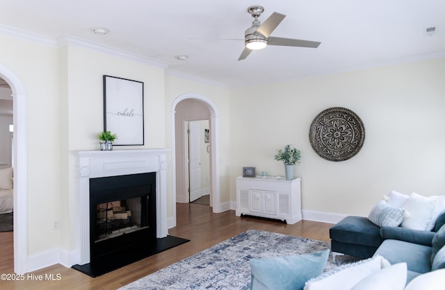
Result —
M168 230L172 236L190 239L186 244L148 257L111 273L90 278L60 264L24 274L24 281L0 280L0 289L118 289L143 278L165 266L178 262L220 241L234 237L248 229L280 232L298 237L330 241L330 223L300 221L286 225L281 221L235 216L233 210L213 214L206 205L177 204L177 226ZM0 232L0 273L13 273L13 232ZM33 275L33 276L31 276ZM43 281L35 280L42 275ZM51 275L54 280L45 280Z

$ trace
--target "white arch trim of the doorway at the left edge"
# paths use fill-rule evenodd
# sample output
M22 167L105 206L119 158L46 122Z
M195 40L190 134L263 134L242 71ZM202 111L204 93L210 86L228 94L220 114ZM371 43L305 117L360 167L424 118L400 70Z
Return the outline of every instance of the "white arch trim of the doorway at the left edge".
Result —
M0 77L13 90L14 160L14 271L26 273L28 222L26 198L26 91L22 80L0 64ZM20 225L20 226L18 226Z

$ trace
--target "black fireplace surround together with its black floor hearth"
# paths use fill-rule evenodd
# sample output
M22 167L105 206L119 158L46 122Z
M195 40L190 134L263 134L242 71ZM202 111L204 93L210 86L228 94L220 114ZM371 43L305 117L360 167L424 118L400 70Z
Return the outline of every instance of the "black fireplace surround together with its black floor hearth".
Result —
M114 225L106 225L112 230L104 234L97 221L99 205L108 207L129 200L140 203L138 214L128 218L129 225L135 229L120 234ZM103 238L108 234L111 238ZM90 263L73 268L97 277L186 241L172 236L156 238L156 172L90 178Z

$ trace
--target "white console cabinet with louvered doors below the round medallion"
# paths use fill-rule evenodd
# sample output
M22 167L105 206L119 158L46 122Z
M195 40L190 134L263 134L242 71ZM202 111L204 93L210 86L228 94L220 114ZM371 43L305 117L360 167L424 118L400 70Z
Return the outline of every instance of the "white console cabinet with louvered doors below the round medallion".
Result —
M275 177L236 178L236 216L242 214L301 221L301 179Z

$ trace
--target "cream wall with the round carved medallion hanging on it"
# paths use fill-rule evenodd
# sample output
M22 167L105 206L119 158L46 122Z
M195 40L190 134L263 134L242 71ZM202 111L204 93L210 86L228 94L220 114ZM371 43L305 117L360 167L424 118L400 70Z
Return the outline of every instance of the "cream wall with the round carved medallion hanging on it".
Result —
M233 89L230 103L231 199L243 166L284 176L273 159L293 144L302 160L302 208L367 216L396 189L445 194L445 59ZM364 122L362 150L330 162L309 144L309 126L331 107L353 110Z

